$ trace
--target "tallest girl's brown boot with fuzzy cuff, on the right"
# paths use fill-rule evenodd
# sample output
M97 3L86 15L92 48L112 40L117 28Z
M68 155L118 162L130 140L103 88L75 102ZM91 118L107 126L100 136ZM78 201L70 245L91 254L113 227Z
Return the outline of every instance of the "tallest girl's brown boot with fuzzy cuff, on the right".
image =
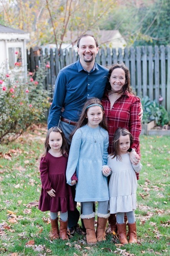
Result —
M108 218L97 217L97 230L96 230L96 238L98 242L106 240L106 225Z

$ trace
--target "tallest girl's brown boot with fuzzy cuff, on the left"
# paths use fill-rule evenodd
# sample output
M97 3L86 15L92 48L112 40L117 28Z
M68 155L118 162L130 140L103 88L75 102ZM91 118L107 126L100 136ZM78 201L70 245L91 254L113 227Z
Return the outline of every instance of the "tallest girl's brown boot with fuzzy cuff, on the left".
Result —
M91 219L83 219L84 226L86 228L86 240L87 244L96 244L96 233L94 228L94 217Z

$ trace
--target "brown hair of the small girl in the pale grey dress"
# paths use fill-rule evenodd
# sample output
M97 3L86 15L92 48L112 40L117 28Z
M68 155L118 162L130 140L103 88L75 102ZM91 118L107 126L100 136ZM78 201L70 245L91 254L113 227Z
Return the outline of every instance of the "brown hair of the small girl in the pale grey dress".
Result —
M112 141L112 152L111 152L111 156L113 156L112 158L119 157L120 160L122 160L121 158L121 152L120 152L120 147L119 147L119 138L120 136L126 136L127 134L129 134L130 137L130 145L132 145L133 143L133 137L131 135L131 133L125 129L125 128L118 128L115 131L114 137L113 137L113 141Z

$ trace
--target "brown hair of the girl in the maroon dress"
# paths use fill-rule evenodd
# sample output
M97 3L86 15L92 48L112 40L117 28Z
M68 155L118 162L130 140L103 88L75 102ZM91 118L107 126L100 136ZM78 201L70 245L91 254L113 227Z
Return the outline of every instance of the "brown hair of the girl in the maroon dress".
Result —
M46 139L45 139L45 143L44 143L44 146L45 146L45 150L44 150L44 153L41 157L45 157L48 153L48 151L50 150L50 145L49 145L49 137L50 137L50 133L51 132L59 132L61 134L61 137L63 139L63 143L61 145L61 154L64 156L64 154L66 153L66 155L68 155L68 143L66 141L66 138L64 136L64 133L61 129L59 129L57 126L54 126L54 127L51 127L48 132L47 132L47 136L46 136Z

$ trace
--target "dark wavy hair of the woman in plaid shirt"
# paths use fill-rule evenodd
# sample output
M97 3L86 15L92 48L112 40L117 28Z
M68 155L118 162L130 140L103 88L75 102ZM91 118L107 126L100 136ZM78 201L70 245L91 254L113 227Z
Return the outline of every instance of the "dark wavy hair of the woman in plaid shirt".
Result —
M126 67L124 63L121 63L121 64L117 63L117 64L112 65L109 69L109 75L108 75L109 79L110 79L111 74L114 69L123 69L123 71L125 72L125 84L122 87L123 93L125 93L125 91L128 91L130 94L134 94L132 92L132 88L130 86L130 72L129 72L128 67ZM107 81L105 91L111 91L111 85L110 85L109 81Z

